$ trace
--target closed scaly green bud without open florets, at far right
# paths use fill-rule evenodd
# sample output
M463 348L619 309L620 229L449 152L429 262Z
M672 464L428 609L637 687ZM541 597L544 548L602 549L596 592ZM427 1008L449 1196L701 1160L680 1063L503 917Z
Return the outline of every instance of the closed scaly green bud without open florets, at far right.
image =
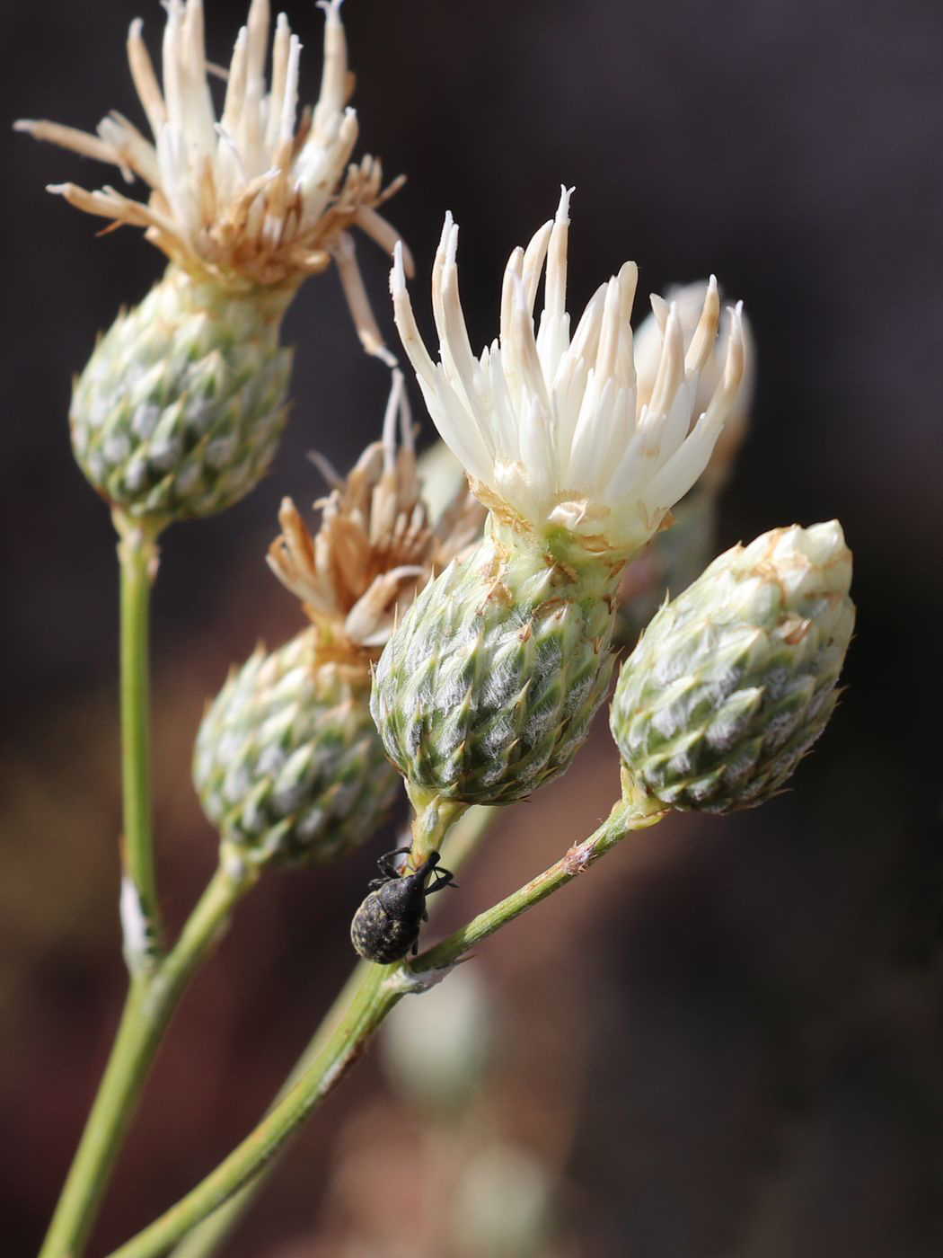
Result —
M612 702L627 788L708 813L776 794L835 707L850 582L832 520L734 546L663 606Z

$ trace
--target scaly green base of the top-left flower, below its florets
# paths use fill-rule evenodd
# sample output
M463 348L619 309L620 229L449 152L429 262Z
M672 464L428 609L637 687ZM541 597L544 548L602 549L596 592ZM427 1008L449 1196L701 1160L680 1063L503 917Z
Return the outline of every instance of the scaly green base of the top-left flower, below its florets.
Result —
M138 520L209 516L268 468L284 426L293 289L235 292L179 267L96 346L72 398L94 488Z

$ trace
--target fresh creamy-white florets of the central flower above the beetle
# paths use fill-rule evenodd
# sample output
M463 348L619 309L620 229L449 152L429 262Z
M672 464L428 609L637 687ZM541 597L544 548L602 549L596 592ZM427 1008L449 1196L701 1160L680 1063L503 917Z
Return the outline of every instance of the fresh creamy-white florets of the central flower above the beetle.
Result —
M678 309L670 307L654 387L639 405L630 325L634 262L600 286L570 335L571 191L562 190L556 218L527 249L512 253L500 336L480 357L472 352L461 313L451 215L433 269L438 364L416 327L399 252L394 311L429 413L485 504L503 507L537 532L565 528L588 550L629 555L653 536L710 458L743 372L742 313L739 304L731 313L720 380L698 414L698 379L719 320L717 282L708 286L687 346ZM543 311L534 330L544 263Z

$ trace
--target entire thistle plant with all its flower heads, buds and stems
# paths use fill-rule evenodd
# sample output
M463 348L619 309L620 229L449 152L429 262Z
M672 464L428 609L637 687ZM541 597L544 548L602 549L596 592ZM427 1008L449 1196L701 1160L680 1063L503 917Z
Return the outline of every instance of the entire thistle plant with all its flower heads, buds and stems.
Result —
M283 15L265 83L267 0L253 0L236 39L219 118L200 0L170 0L162 87L138 21L128 36L152 141L118 113L94 136L19 125L114 165L128 182L142 179L146 203L109 186L53 190L114 225L143 228L168 259L151 294L96 347L72 405L75 454L119 533L119 912L130 991L41 1258L84 1252L177 1001L265 867L324 866L329 886L329 863L370 837L402 775L412 842L395 853L401 862L382 858L381 882L411 874L412 941L425 897L451 881L494 810L463 814L510 805L567 771L609 691L627 565L681 503L688 531L663 554L679 556L675 571L681 560L700 566L749 409L749 332L739 303L722 323L713 278L653 297L634 337L637 272L627 262L571 335L567 189L554 218L512 253L499 336L479 356L446 215L433 269L434 361L406 292L409 257L377 213L397 185L383 190L371 157L348 165L357 122L346 108L339 0L322 8L321 94L301 114L301 45ZM394 253L395 322L475 498L463 486L441 512L424 501L395 370L381 439L346 478L321 460L331 491L317 504L317 530L283 501L268 562L308 623L274 650L259 648L206 710L194 782L220 835L219 867L167 942L148 769L156 541L171 521L231 504L268 467L290 369L279 326L307 276L336 262L361 342L395 366L366 302L353 228ZM361 961L254 1131L112 1258L156 1258L174 1245L177 1258L207 1258L405 995L446 979L483 940L670 810L723 814L776 795L835 708L854 623L850 575L836 521L793 526L725 552L666 603L619 677L611 728L622 793L602 824L417 956L391 950L389 964ZM439 863L446 838L448 876ZM426 874L439 882L424 884ZM389 916L400 928L394 899ZM348 946L346 932L338 944Z

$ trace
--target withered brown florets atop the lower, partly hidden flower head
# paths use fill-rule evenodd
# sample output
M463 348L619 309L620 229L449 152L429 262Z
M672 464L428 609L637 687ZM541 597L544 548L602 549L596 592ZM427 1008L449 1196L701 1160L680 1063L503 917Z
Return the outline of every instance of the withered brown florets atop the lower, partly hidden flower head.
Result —
M439 521L430 520L400 371L394 372L382 439L366 448L347 479L319 462L334 486L317 503L321 527L312 536L285 498L269 566L302 599L326 640L341 653L372 658L392 633L397 611L475 538L484 512L463 487Z

